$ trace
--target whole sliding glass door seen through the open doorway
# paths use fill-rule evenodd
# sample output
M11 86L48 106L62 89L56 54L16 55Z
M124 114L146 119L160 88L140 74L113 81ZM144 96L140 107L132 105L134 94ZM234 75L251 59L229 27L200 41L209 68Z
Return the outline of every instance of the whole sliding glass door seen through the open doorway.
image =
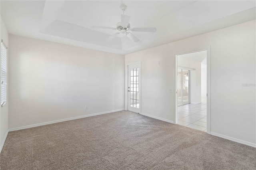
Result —
M190 103L190 71L178 69L177 75L177 103L178 106Z

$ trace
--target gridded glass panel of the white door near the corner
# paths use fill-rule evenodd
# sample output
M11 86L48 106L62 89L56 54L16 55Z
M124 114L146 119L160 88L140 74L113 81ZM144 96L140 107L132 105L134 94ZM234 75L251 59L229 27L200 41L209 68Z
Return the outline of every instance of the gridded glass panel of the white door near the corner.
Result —
M140 108L139 75L140 68L130 69L130 107L137 109Z

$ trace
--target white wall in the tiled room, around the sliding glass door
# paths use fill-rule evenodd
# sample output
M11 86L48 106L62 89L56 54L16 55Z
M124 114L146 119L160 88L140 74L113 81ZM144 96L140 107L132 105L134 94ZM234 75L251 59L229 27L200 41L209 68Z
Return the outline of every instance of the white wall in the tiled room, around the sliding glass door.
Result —
M177 56L178 66L195 69L190 71L190 103L198 104L201 103L201 63L184 58L184 55Z

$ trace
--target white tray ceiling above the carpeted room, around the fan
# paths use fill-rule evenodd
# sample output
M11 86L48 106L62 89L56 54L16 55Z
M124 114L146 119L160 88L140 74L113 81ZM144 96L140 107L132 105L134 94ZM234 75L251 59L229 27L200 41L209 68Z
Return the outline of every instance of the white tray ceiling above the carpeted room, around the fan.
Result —
M136 27L156 27L155 33L133 32L140 39L106 38L116 30L92 29L91 26L115 27L120 22L120 5ZM10 34L128 54L218 30L256 18L252 1L5 1L1 17ZM123 44L123 46L122 46ZM124 46L124 44L126 44Z

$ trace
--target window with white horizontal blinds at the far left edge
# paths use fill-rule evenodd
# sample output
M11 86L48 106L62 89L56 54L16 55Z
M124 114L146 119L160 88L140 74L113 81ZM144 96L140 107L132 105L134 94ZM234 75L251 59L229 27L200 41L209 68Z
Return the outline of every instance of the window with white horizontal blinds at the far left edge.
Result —
M7 96L7 47L1 43L1 106L6 103Z

